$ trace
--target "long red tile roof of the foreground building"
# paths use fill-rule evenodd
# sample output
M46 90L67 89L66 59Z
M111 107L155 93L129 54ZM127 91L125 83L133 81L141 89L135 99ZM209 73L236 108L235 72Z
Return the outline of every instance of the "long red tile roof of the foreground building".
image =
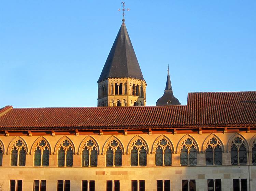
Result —
M181 106L13 108L0 115L2 130L216 126L256 126L256 91L188 93Z

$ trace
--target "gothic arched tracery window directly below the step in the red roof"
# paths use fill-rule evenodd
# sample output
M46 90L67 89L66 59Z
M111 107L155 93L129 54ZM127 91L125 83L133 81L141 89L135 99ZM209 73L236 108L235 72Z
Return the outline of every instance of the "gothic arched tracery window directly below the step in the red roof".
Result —
M183 142L183 146L181 149L181 165L197 165L197 149L195 143L191 138L187 138Z

